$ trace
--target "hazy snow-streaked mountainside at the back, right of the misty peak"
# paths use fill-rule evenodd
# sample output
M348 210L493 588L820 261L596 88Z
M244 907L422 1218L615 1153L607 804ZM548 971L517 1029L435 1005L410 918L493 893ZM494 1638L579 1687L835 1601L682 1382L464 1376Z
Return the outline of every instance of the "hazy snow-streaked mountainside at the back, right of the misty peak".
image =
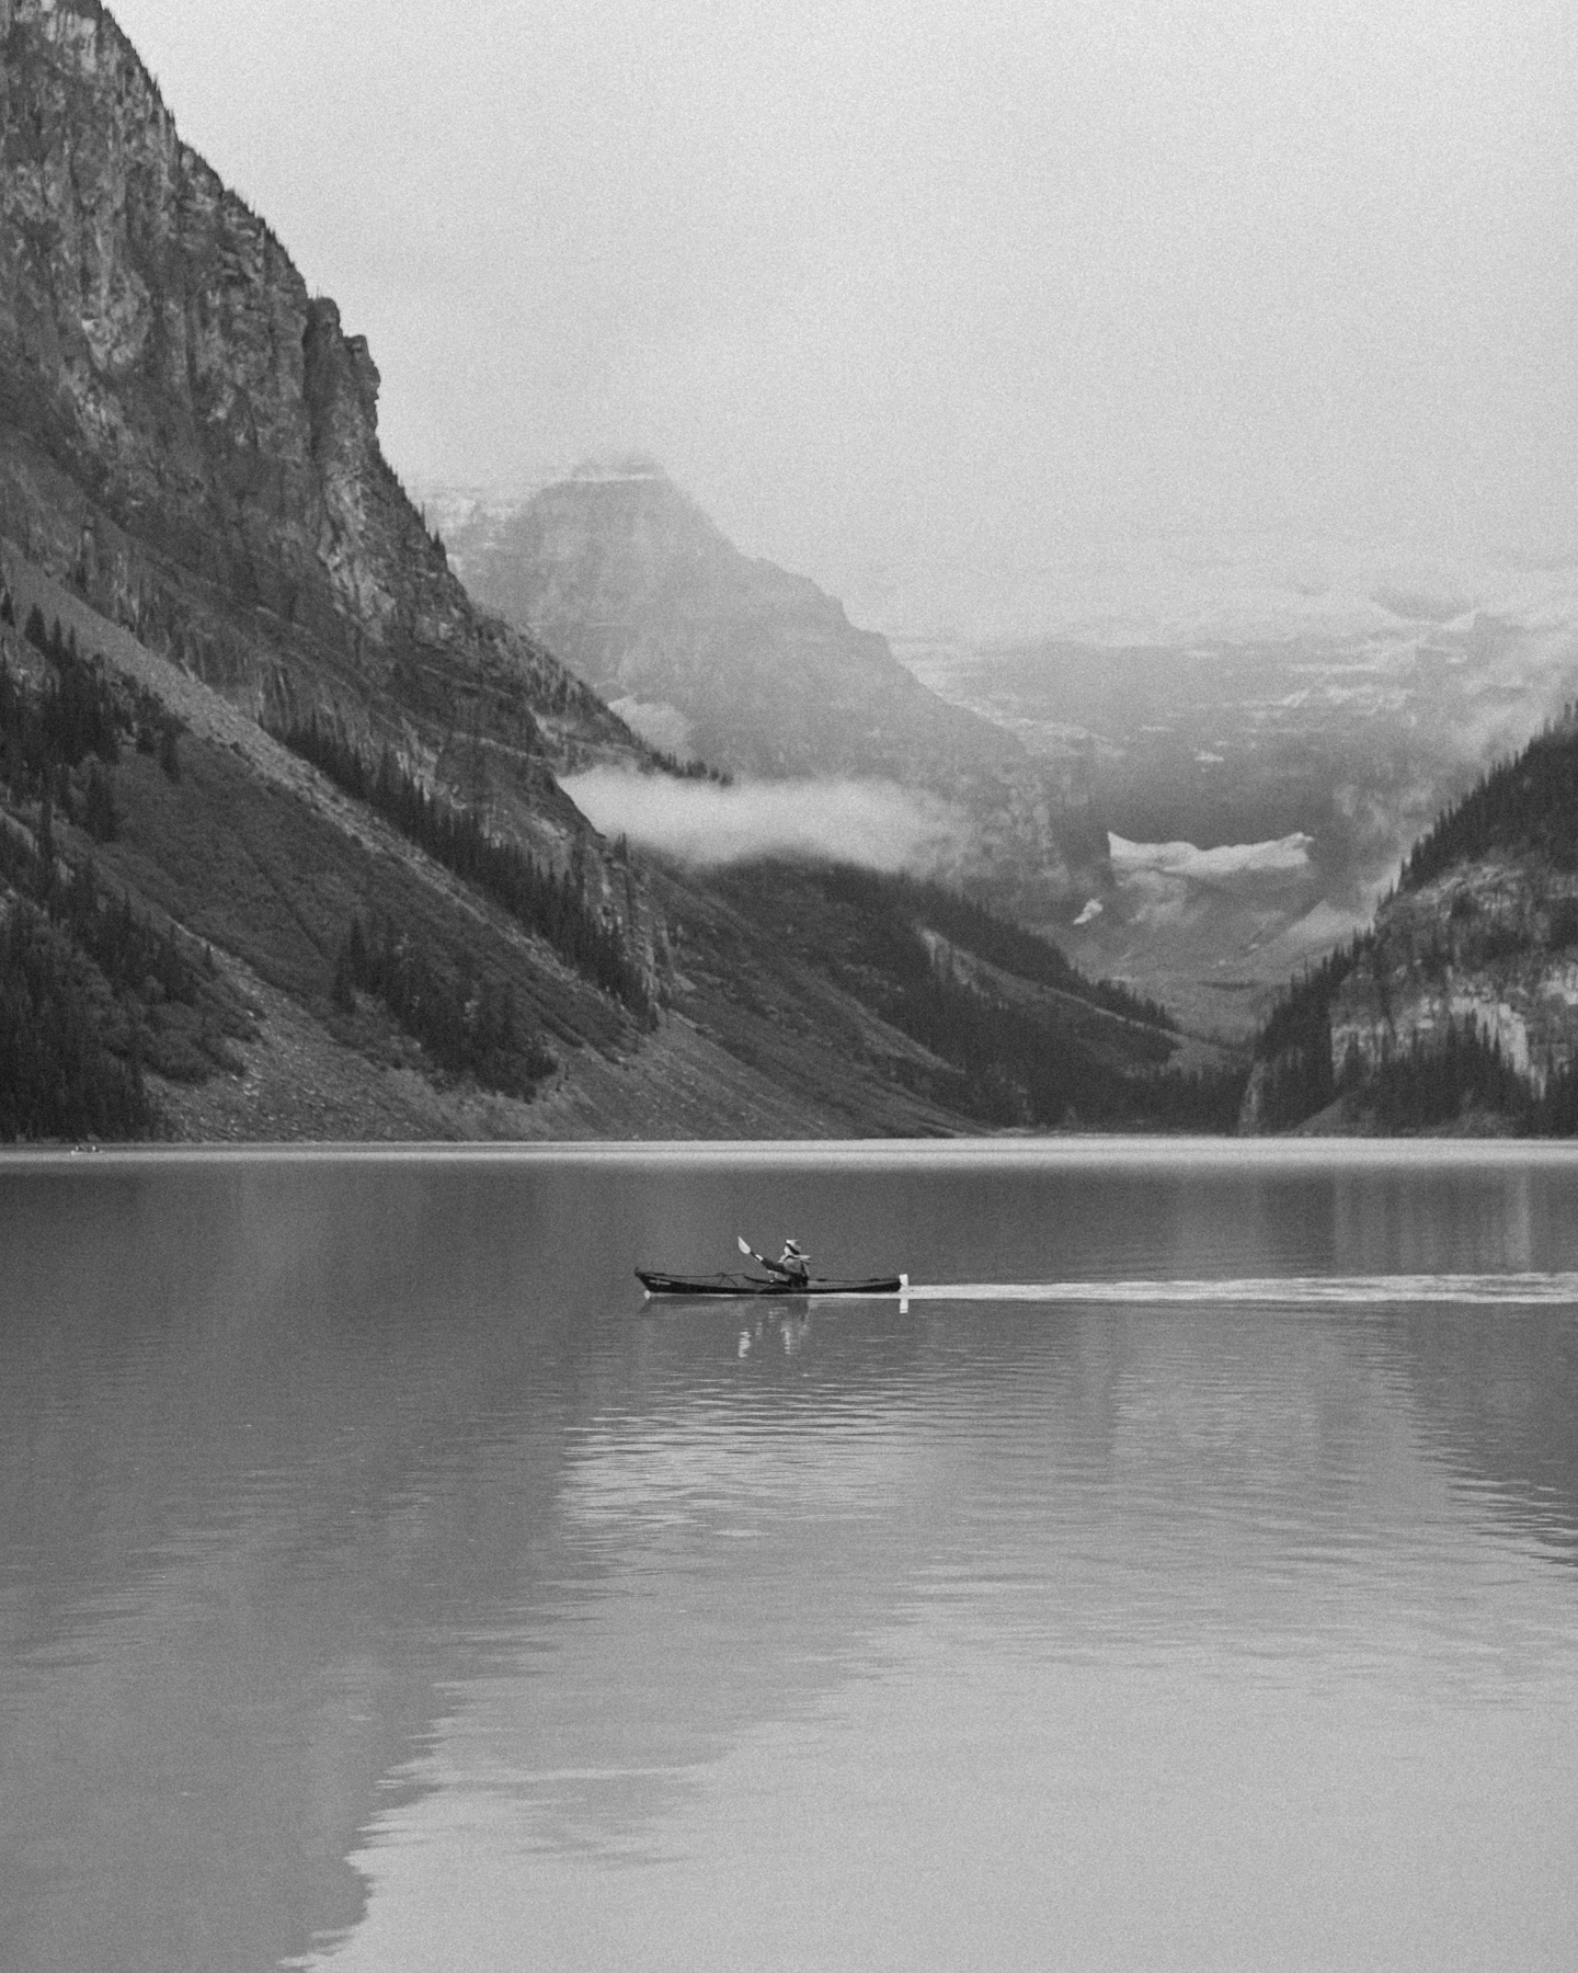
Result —
M1245 1034L1369 923L1440 809L1578 691L1570 621L1404 614L1424 606L1371 598L1359 621L1276 641L897 649L1012 730L1107 835L1101 882L1047 931L1083 967Z

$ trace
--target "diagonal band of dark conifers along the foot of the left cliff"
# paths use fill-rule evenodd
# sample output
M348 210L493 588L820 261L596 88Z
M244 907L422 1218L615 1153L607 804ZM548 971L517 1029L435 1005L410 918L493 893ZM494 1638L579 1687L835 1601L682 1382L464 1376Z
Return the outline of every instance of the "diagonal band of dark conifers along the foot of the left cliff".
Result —
M527 931L546 939L582 979L643 1020L655 1020L645 975L631 959L623 931L592 912L582 886L570 876L554 876L517 844L489 837L471 809L428 791L389 746L377 762L369 762L316 714L276 728L276 738L347 795L377 809L434 862L503 906Z

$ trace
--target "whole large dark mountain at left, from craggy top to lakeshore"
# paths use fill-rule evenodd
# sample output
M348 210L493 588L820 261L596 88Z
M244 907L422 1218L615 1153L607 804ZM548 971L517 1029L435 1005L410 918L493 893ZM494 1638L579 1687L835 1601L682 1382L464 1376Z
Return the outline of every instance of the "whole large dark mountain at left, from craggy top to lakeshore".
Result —
M604 840L560 773L661 764L462 586L367 345L97 0L0 37L0 1138L1217 1115L1231 1063L959 900Z

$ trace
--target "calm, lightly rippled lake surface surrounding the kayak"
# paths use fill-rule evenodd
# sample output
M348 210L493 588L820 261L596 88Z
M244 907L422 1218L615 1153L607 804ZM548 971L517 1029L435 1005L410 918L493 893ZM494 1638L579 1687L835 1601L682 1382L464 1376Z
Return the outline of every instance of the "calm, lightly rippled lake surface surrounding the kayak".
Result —
M913 1292L643 1302L736 1233ZM6 1973L1574 1963L1572 1150L8 1156L0 1261Z

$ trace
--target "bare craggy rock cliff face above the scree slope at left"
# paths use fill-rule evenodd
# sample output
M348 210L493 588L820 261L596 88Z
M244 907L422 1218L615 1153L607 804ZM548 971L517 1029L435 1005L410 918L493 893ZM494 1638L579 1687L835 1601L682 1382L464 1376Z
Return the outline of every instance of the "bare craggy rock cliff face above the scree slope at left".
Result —
M379 450L367 343L97 0L0 0L0 533L256 716L391 740L562 852L548 769L631 736L471 604Z

